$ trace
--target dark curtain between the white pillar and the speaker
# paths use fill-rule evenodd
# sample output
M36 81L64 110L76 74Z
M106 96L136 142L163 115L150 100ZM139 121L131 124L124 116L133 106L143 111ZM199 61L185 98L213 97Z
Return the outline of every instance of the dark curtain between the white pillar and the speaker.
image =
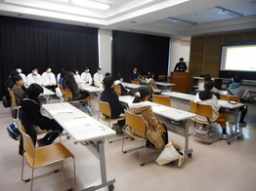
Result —
M112 73L121 73L124 81L129 81L133 67L138 67L142 75L149 71L154 76L167 75L170 38L137 34L131 32L112 32Z

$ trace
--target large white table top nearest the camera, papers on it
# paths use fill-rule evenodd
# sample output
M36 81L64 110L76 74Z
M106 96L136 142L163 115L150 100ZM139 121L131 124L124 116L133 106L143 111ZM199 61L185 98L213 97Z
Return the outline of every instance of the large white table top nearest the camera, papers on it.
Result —
M43 104L42 107L48 111L77 142L102 139L106 136L116 134L106 125L69 103Z

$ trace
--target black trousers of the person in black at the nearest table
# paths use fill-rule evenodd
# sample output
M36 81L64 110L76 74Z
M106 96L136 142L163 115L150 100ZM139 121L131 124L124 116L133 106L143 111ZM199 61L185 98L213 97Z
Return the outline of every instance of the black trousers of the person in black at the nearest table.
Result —
M55 121L54 119L49 120L47 123L39 126L41 130L46 130L46 131L58 131L60 134L63 133L64 129L62 128L62 126L60 126L60 124L57 123L57 121ZM45 142L46 145L51 144L58 136L59 133L49 133L46 134L43 137L43 141Z

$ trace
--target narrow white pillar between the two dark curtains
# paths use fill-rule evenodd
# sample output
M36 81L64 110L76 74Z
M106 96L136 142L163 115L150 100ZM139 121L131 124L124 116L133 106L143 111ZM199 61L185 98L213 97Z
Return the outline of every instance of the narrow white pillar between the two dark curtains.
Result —
M111 30L99 30L99 66L103 69L103 74L111 73Z

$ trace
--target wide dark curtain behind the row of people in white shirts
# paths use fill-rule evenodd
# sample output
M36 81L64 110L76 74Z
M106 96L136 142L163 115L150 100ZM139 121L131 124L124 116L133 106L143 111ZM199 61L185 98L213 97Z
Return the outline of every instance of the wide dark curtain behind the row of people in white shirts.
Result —
M39 73L49 64L57 75L61 68L78 69L87 65L92 74L99 65L98 29L32 19L0 17L0 96L3 83L16 65Z

